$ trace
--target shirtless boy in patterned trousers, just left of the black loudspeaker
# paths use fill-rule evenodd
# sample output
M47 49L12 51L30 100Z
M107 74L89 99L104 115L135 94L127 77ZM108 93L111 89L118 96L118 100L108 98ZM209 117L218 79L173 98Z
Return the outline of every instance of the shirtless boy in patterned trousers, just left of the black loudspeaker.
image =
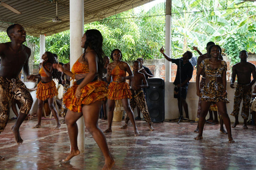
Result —
M134 77L129 80L129 85L131 86L131 92L132 92L132 99L130 100L130 106L132 110L137 106L140 108L140 111L145 118L145 121L148 123L148 128L150 131L154 131L155 129L152 126L151 118L148 112L148 106L147 102L144 96L144 92L142 88L148 87L148 82L146 80L146 77L143 73L139 72L140 68L140 62L134 61L133 62L133 75ZM143 83L142 83L143 82ZM125 129L128 126L130 118L125 114L124 121L125 125L121 129Z

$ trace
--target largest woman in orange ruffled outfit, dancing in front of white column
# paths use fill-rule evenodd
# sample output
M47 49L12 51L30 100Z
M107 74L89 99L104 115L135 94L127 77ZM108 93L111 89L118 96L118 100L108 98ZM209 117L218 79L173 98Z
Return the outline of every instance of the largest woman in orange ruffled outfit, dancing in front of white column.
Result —
M83 116L86 129L92 134L105 158L105 165L102 169L111 169L115 160L110 155L105 135L98 127L102 101L107 97L106 83L98 80L103 73L102 41L100 31L87 30L82 37L81 44L81 47L85 49L84 54L75 62L71 72L63 69L61 64L54 64L54 68L76 80L63 96L63 103L68 108L65 121L71 150L62 161L67 162L80 154L77 146L76 121Z

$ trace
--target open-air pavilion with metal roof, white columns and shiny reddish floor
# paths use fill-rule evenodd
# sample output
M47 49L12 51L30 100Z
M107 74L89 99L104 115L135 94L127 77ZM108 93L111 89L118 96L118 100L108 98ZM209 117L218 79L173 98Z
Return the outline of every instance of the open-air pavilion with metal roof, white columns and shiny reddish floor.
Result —
M106 18L131 8L151 2L149 0L123 1L79 1L59 0L58 4L51 0L9 0L1 1L0 30L13 24L23 25L28 35L40 36L41 54L44 53L45 36L70 29L70 56L82 54L80 39L83 35L83 25ZM6 5L7 4L7 5ZM58 5L58 18L56 7ZM12 6L15 11L9 7ZM18 13L21 14L18 14ZM49 19L49 18L53 18ZM58 22L60 21L61 22ZM53 22L54 21L54 22ZM166 0L166 54L171 52L171 1ZM71 65L77 58L70 58ZM165 119L166 122L154 123L155 131L147 130L146 123L138 122L141 133L134 137L131 128L119 130L122 122L113 123L113 133L106 134L110 152L116 165L113 169L254 169L256 149L254 145L255 126L248 130L233 129L236 143L228 143L227 135L219 133L219 125L206 125L204 139L195 141L196 123L173 123L177 118L177 100L173 98L173 84L170 80L171 64L165 63ZM195 83L189 84L195 89ZM234 90L229 89L228 98L233 98ZM190 117L195 118L198 97L195 90L188 92ZM172 104L173 103L173 104ZM175 104L174 104L175 103ZM230 101L228 111L231 111L233 101ZM231 122L234 119L231 119ZM240 120L241 121L241 120ZM31 129L36 120L24 122L20 132L24 142L16 145L11 133L14 121L9 122L0 134L0 155L5 160L0 162L1 169L100 169L103 156L93 138L84 130L82 120L79 120L79 149L83 154L71 159L70 164L59 161L69 151L69 139L66 125L60 131L53 131L54 120L45 122L41 129ZM43 122L44 123L44 122ZM107 128L107 122L99 121L102 130ZM84 135L85 133L85 135ZM84 137L85 136L85 137Z

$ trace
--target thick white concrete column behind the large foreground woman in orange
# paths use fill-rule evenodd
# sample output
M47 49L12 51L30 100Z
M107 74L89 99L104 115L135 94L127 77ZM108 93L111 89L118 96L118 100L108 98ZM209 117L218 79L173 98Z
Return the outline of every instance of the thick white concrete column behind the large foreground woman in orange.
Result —
M73 0L70 2L70 69L83 53L81 38L84 33L84 0ZM78 125L78 148L84 152L85 132L83 117L77 121Z

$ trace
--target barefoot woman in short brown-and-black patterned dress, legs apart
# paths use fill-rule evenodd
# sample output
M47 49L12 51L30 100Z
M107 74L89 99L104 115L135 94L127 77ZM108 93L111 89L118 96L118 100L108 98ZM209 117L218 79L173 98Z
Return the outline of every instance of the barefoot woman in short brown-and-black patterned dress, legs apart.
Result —
M220 60L219 57L221 55L221 48L218 45L212 45L209 47L208 52L211 58L205 59L199 65L196 74L196 95L201 97L201 114L198 121L199 133L197 135L196 140L203 139L203 129L205 123L205 117L207 112L209 111L209 107L212 102L215 102L219 114L223 118L223 122L226 126L228 132L228 142L234 143L235 141L232 138L231 134L231 125L230 119L227 113L227 63L223 60ZM199 90L199 79L201 72L204 70L206 74L206 82L205 86Z

